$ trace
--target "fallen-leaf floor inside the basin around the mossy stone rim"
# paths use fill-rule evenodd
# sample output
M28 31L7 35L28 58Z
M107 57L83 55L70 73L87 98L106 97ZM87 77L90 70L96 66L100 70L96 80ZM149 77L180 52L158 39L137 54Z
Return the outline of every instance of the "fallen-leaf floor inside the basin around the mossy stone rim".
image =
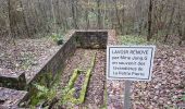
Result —
M106 80L106 52L99 49L77 49L74 56L67 60L67 64L62 72L61 87L66 86L70 81L74 69L87 70L90 66L94 55L96 53L95 69L91 72L89 85L87 87L85 102L83 105L76 105L75 108L82 108L86 106L100 107L103 105L103 89ZM65 106L65 108L71 105Z

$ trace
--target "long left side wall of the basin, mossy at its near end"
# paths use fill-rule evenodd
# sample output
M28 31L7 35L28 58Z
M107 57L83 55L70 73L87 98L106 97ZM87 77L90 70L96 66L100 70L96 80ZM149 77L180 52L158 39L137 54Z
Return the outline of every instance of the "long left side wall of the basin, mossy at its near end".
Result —
M76 50L76 39L71 33L73 33L73 31L67 34L66 37L69 38L64 40L61 48L49 59L48 62L46 62L35 77L27 82L29 86L33 83L40 83L42 81L41 84L49 87L49 85L51 85L50 83L61 74L65 66L65 61L73 56Z

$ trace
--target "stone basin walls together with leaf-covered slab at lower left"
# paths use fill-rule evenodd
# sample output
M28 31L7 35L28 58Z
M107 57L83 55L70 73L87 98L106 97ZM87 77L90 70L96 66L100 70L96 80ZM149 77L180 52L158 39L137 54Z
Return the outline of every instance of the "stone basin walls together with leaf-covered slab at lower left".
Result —
M106 49L107 45L116 44L113 29L70 31L64 37L64 44L48 58L34 77L26 80L26 72L20 72L20 74L0 72L0 108L18 107L34 92L32 84L39 83L48 73L52 72L52 78L45 81L54 81L65 66L65 61L77 48Z

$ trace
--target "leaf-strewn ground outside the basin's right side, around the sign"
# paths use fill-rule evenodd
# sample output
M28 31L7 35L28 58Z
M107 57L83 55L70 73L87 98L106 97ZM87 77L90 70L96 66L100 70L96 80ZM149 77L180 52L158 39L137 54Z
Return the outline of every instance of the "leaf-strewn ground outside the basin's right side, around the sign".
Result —
M146 45L147 40L140 37L122 36L123 45ZM133 109L184 109L185 108L185 48L177 46L176 38L170 37L164 43L148 43L157 45L150 82L132 83ZM118 95L108 102L108 109L123 107L124 82L108 82L108 94ZM109 88L109 87L112 87ZM110 89L110 90L109 90ZM110 98L110 97L109 97ZM110 98L111 99L111 98Z

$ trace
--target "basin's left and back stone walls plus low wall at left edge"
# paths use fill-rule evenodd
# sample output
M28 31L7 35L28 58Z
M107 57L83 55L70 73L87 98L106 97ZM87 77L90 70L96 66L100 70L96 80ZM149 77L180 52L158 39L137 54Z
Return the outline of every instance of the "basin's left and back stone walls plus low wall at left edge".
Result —
M11 77L0 74L0 87L24 89L34 94L36 93L34 83L52 86L52 82L58 78L65 66L65 61L74 55L76 48L106 49L107 45L116 44L115 32L112 29L70 31L64 37L64 44L48 58L33 78L26 81L26 72Z

